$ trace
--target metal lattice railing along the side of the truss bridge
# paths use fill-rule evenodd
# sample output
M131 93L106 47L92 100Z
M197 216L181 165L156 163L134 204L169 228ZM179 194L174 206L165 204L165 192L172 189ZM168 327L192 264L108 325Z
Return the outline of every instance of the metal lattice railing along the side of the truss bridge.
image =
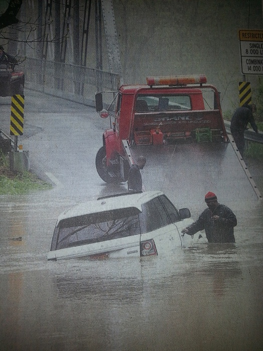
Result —
M85 66L27 57L26 88L94 106L95 93L118 90L120 76Z

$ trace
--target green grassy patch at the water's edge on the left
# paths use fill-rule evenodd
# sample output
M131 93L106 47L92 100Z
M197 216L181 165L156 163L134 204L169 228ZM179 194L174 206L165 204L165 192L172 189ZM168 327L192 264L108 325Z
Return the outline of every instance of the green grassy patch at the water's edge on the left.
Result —
M24 195L51 188L50 184L29 171L12 172L9 169L9 157L0 150L0 195Z

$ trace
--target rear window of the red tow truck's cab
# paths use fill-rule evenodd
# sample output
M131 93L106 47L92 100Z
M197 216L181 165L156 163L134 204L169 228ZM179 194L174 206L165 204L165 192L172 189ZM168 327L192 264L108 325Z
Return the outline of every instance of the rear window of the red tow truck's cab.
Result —
M136 112L191 110L189 95L139 95Z

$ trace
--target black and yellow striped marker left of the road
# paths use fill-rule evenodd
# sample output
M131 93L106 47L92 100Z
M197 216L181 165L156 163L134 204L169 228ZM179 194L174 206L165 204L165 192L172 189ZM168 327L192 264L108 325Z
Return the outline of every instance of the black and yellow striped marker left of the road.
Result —
M11 99L10 135L23 135L24 95L13 95Z

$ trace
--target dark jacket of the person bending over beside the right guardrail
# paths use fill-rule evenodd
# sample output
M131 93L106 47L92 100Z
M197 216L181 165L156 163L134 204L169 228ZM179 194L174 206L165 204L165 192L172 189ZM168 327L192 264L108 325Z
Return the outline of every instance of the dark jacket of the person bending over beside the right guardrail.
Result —
M244 131L248 123L250 123L253 130L257 133L257 126L250 108L245 106L238 107L232 116L230 128L232 130Z

